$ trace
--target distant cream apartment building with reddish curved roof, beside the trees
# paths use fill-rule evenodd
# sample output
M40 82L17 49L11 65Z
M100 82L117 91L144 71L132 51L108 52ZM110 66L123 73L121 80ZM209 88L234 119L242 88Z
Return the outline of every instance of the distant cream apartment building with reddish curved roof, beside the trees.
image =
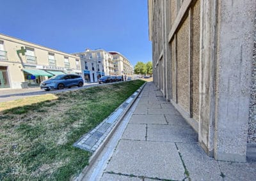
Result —
M131 62L125 58L124 55L119 52L109 52L109 54L113 55L113 65L114 65L114 73L115 75L133 75L133 66Z

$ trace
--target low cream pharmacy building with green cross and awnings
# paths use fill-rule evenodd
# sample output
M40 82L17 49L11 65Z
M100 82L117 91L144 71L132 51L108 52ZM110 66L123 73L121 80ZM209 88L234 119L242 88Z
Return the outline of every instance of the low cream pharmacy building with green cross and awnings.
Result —
M79 57L0 34L0 89L38 86L66 73L81 75Z

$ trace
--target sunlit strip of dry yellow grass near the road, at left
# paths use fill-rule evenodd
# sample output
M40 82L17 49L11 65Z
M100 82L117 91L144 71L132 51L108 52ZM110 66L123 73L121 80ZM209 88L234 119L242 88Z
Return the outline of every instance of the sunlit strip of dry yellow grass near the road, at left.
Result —
M27 105L32 105L34 103L40 103L43 101L49 101L54 99L58 99L58 97L55 96L54 94L44 94L40 96L31 96L28 98L17 99L15 101L8 101L8 102L0 103L0 112L4 110L9 110L11 108L17 108L19 106L27 106Z

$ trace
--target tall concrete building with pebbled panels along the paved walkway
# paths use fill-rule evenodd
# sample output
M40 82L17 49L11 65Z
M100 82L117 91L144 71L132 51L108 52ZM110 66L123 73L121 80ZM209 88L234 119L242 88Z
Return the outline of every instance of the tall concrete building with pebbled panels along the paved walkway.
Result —
M256 0L148 0L154 83L217 160L256 153L255 15Z

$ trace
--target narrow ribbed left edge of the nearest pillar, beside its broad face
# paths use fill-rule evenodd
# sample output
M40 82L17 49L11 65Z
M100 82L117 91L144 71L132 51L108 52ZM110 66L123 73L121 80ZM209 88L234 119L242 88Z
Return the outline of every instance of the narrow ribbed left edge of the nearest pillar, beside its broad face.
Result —
M214 153L217 1L200 1L198 141L211 157Z

